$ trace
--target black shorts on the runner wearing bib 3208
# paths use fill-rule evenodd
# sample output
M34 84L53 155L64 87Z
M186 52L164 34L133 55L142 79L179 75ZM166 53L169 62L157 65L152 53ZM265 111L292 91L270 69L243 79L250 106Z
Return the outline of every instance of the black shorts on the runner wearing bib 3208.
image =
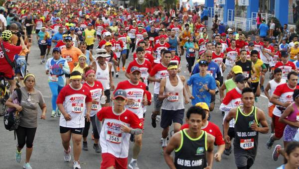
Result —
M162 109L160 126L164 129L173 123L183 124L185 109L164 110Z

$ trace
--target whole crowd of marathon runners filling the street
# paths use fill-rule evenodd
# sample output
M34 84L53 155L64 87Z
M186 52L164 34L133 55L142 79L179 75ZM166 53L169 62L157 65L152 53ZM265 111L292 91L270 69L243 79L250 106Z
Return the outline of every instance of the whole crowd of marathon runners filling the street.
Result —
M46 118L35 76L26 74L34 38L52 93L50 117L60 118L61 154L65 162L73 158L73 169L81 169L81 151L89 150L90 125L92 147L102 155L101 169L139 169L145 122L153 128L159 122L163 129L160 153L171 169L212 169L214 160L221 162L222 154L232 152L236 167L249 169L257 156L259 133L269 130L262 145L272 149L275 141L284 141L273 148L274 161L280 155L285 158L279 169L299 168L297 35L288 25L280 40L272 31L265 35L265 29L255 40L231 28L208 34L205 12L196 7L142 13L86 1L6 2L0 7L0 72L11 85L6 105L23 112L16 130L16 162L21 162L26 145L23 168L32 169L37 107L42 109L40 118ZM12 69L6 54L18 69ZM185 59L187 65L181 62ZM188 71L189 77L180 76L181 71ZM128 80L116 84L120 76ZM14 77L23 79L20 103L15 102ZM269 99L268 113L254 105L263 92ZM216 96L220 105L215 105ZM185 110L189 102L192 106ZM147 112L149 106L152 112ZM222 112L223 126L213 123L212 111ZM145 119L146 113L150 118ZM129 140L134 144L128 161Z

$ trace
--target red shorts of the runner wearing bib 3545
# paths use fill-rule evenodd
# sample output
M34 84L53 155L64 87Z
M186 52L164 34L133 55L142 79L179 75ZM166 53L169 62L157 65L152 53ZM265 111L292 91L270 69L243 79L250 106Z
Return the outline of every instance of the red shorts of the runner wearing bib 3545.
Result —
M102 153L101 169L107 169L112 166L115 169L127 169L128 158L116 158L110 153Z

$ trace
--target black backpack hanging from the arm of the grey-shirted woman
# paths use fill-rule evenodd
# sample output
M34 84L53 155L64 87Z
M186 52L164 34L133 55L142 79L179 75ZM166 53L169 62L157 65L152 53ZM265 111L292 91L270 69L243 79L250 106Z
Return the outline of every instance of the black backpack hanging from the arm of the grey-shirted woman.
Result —
M21 89L16 88L15 90L17 93L17 102L18 102L18 104L20 104L21 99L22 99ZM20 124L21 117L22 117L22 112L16 111L15 108L7 108L7 110L3 116L5 129L9 130L9 131L14 130L14 132L15 132L15 130L18 128L18 126ZM15 139L15 135L14 135L14 139Z

